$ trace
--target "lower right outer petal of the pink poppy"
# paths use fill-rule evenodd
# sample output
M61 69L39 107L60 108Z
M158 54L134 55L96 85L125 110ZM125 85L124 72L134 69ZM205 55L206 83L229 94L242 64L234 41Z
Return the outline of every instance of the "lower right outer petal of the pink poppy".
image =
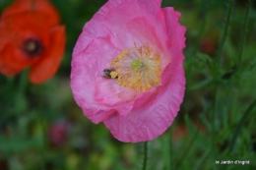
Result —
M160 89L149 104L123 116L115 113L104 121L111 134L121 142L146 142L156 139L171 125L183 100L185 79L183 57L167 66L163 73L168 85ZM170 74L171 73L171 74ZM135 102L136 103L136 102Z

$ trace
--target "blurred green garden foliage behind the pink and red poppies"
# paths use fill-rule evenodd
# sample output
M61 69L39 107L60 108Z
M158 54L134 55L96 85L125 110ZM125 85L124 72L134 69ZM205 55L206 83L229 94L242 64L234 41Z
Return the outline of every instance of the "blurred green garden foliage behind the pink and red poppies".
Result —
M172 126L149 142L148 169L256 169L256 3L250 1L247 27L247 0L162 1L162 7L181 12L187 28L187 81ZM0 0L0 12L12 2ZM27 82L28 71L14 78L0 75L0 170L141 169L142 143L118 142L101 123L89 121L69 86L76 40L106 0L51 2L67 28L65 56L56 76L42 85Z

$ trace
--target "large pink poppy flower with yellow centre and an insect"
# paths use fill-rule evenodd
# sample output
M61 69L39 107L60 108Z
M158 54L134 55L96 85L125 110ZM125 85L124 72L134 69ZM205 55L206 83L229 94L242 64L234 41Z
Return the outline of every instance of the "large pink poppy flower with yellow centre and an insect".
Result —
M185 28L161 0L108 0L73 51L71 88L92 122L121 142L156 139L183 100Z

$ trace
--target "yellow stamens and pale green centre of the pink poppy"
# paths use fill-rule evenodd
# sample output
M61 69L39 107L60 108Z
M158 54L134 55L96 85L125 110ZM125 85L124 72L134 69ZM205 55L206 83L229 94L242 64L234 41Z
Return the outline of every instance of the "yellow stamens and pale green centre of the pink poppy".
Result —
M147 45L124 49L110 65L115 68L110 76L118 76L115 82L118 85L137 91L146 91L152 86L160 85L161 58Z

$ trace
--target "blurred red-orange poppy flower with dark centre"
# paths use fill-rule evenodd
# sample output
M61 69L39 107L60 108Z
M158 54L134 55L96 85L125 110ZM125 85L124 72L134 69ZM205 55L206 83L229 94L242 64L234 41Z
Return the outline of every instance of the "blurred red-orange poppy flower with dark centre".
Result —
M15 76L31 67L41 84L57 71L65 48L65 27L46 0L16 0L0 18L0 73Z

